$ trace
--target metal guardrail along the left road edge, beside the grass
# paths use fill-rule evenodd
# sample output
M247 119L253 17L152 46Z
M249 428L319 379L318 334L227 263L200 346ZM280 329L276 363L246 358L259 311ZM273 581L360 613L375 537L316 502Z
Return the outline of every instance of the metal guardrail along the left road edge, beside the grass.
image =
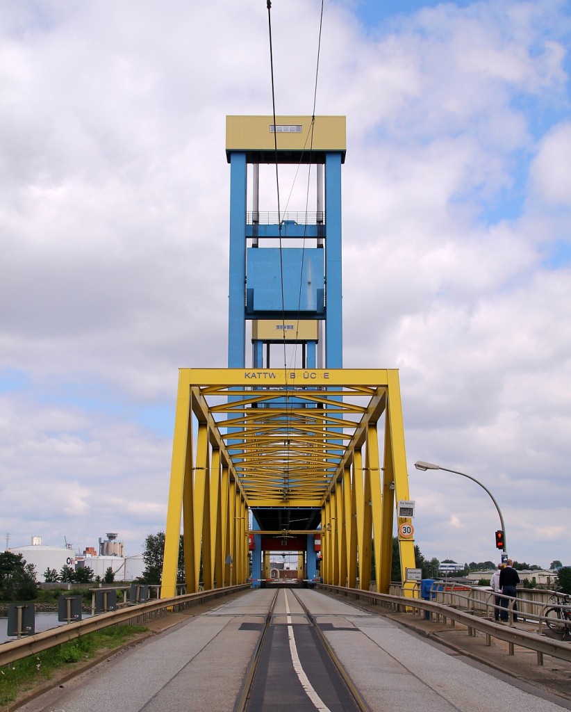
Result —
M112 625L119 623L141 624L147 619L158 617L159 615L166 615L169 610L178 612L196 606L199 603L228 596L230 593L249 588L250 584L240 584L226 588L215 588L200 593L189 593L174 598L152 600L146 603L128 606L117 611L102 613L83 621L78 621L77 623L69 623L60 628L52 628L42 633L23 637L9 643L0 644L0 666L21 660L28 655L36 655L56 645L75 640L88 633L93 633Z

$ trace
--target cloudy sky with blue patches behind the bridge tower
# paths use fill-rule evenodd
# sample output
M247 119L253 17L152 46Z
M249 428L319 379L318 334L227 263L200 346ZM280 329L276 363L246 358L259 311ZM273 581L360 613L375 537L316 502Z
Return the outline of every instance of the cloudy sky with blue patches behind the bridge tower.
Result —
M320 11L272 3L278 114L311 115ZM498 517L419 459L571 564L570 40L566 0L324 2L344 365L400 369L427 557L497 560ZM272 112L266 3L4 0L0 86L0 549L137 554L178 367L226 365L225 116Z

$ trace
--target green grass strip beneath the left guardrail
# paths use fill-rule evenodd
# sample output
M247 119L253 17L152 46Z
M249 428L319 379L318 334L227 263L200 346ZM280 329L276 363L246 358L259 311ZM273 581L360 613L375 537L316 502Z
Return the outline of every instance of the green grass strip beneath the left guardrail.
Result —
M0 708L25 691L50 680L56 671L95 657L102 650L117 648L145 632L139 625L118 625L31 655L0 668Z

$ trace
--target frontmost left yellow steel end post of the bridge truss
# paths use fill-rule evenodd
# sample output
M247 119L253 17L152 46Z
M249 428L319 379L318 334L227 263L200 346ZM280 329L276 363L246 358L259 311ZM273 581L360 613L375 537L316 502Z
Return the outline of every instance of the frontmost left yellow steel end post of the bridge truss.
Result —
M190 383L188 381L188 369L181 369L178 372L178 394L174 419L169 503L166 510L161 598L171 598L176 595L182 506L185 496L188 496L188 489L190 489L192 495L192 446ZM184 524L186 525L186 520ZM191 540L190 530L191 527L189 527L188 533L189 540Z

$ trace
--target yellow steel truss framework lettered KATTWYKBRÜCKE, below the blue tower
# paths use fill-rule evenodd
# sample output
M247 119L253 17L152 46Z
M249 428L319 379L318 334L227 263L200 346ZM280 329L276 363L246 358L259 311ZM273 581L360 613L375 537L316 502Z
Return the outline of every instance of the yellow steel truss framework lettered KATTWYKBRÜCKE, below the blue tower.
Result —
M378 429L383 432L383 464ZM396 370L181 369L161 596L245 582L248 508L321 508L321 575L390 582L395 500L408 500ZM410 522L400 518L398 523ZM414 541L400 538L402 580Z

